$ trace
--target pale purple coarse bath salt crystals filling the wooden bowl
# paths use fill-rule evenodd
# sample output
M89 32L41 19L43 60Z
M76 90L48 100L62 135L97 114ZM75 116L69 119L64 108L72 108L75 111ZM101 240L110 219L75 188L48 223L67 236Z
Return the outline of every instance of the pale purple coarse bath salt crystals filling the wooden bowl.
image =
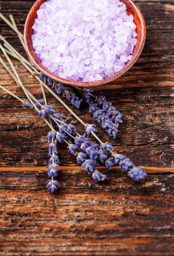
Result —
M48 0L37 15L32 27L35 53L61 78L101 80L132 57L136 25L119 0Z

